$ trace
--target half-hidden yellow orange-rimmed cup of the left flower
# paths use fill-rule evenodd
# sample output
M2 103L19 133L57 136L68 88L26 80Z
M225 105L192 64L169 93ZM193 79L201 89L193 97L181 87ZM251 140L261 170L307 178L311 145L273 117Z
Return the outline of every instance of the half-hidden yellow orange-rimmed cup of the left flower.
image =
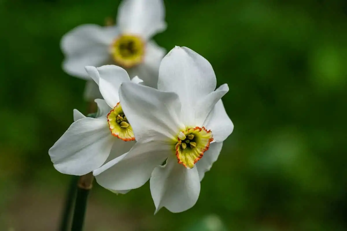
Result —
M135 140L133 128L119 103L107 115L107 122L113 136L124 141Z

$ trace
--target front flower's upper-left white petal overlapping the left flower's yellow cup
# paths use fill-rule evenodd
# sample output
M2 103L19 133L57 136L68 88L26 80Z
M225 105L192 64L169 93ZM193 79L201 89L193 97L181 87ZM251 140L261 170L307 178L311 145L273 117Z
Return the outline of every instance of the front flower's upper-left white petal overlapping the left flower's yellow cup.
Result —
M174 139L180 127L180 102L173 92L162 92L135 83L123 83L120 104L132 125L136 141Z

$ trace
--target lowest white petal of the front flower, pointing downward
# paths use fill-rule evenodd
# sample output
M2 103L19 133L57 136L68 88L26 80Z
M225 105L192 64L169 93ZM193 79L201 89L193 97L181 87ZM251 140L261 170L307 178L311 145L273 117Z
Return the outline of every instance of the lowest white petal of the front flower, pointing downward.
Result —
M200 194L200 179L196 167L189 169L169 157L166 165L156 167L150 179L155 212L166 207L179 213L193 207Z

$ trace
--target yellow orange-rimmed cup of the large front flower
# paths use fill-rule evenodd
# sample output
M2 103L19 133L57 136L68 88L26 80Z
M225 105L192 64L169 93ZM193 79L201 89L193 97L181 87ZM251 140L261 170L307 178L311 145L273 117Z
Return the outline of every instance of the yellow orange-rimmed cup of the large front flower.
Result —
M177 135L175 146L178 163L193 168L213 141L211 130L204 127L188 128Z

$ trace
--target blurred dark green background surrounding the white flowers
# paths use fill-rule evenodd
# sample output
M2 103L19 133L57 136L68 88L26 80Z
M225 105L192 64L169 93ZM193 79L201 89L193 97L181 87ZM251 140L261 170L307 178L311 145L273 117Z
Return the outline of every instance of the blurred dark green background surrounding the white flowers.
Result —
M208 59L235 129L197 204L153 216L149 184L94 185L87 231L347 230L347 1L164 1L168 51ZM118 0L0 0L0 230L56 230L70 176L48 149L87 107L59 42Z

